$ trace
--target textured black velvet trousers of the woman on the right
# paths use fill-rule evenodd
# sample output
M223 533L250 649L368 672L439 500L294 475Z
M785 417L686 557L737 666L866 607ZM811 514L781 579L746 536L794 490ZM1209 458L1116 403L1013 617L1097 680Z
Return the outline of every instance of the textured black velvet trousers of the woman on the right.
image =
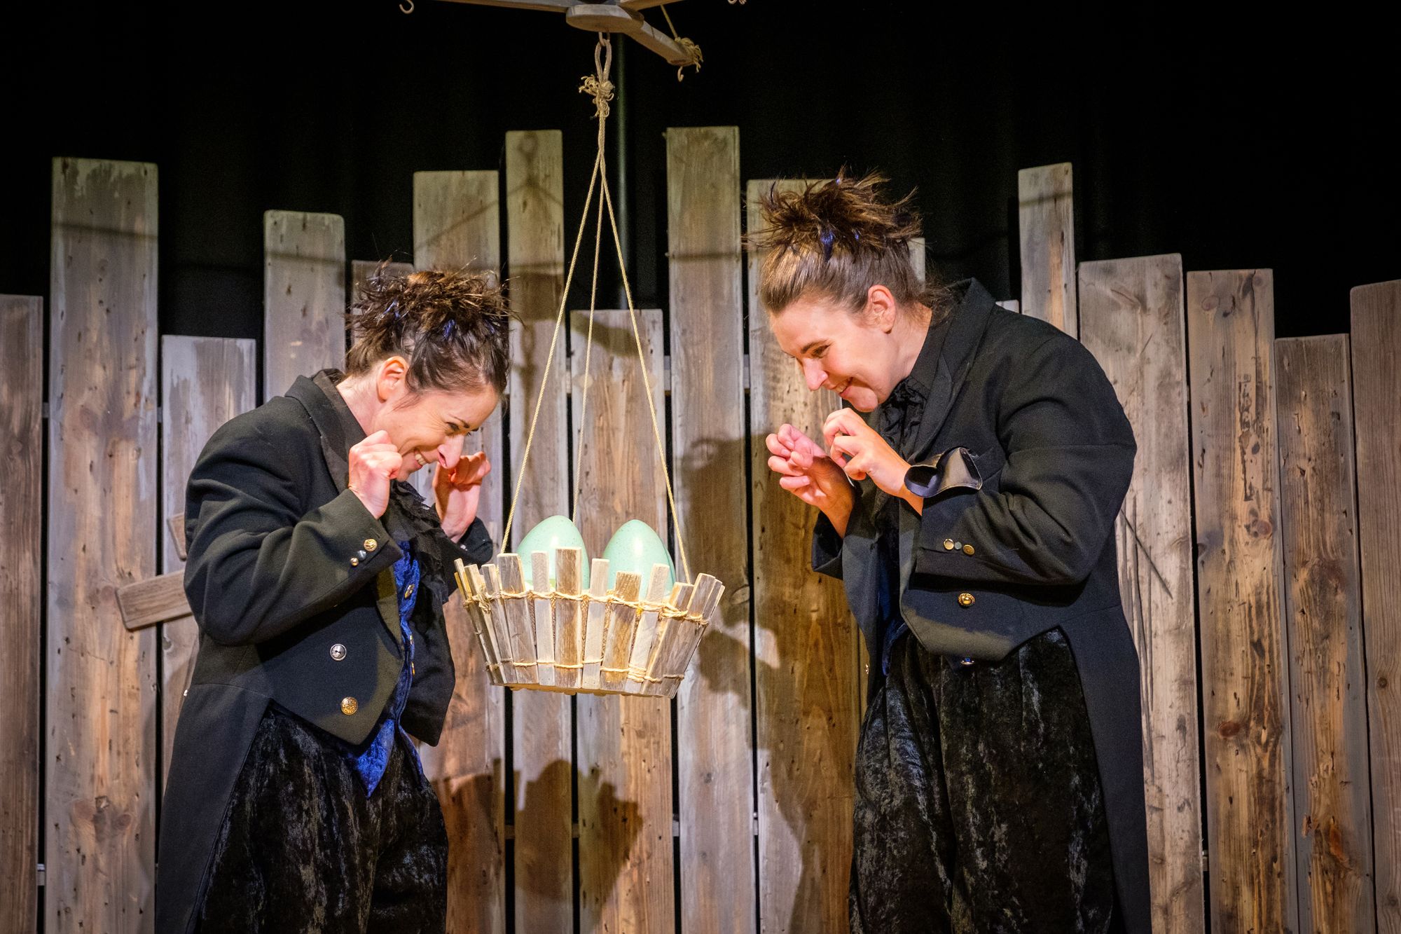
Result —
M1110 834L1059 630L996 665L891 649L856 753L859 934L1104 934Z

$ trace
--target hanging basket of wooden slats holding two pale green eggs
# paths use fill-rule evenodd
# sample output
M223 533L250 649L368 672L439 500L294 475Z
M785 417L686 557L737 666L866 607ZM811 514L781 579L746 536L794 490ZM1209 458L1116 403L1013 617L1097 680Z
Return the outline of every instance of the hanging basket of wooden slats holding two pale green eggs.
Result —
M531 581L545 582L549 555L531 558ZM478 565L457 562L476 644L493 684L567 694L675 697L691 656L716 617L724 585L709 574L667 590L671 569L642 576L618 572L608 590L608 561L595 558L591 586L579 548L555 553L555 588L527 588L521 557L500 554Z

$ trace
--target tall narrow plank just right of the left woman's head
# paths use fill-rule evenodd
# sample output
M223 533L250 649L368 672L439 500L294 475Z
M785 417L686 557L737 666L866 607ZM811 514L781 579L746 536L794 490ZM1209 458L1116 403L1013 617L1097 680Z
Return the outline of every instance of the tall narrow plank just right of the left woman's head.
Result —
M506 135L506 271L511 310L511 491L565 290L565 156L559 130ZM546 395L520 487L513 539L569 515L566 332L559 330ZM507 494L510 495L510 494ZM574 930L573 701L565 694L511 694L516 776L516 930Z

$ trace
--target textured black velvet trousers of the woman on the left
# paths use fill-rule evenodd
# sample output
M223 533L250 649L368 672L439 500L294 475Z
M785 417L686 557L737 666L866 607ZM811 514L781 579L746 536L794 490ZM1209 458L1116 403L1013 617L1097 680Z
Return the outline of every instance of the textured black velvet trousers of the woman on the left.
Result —
M447 829L403 738L367 798L336 739L270 707L198 917L200 934L441 934Z

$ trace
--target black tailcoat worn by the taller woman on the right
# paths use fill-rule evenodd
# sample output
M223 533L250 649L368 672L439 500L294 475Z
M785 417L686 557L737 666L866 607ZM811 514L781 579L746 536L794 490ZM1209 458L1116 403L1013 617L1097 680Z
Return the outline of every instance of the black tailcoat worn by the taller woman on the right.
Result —
M899 611L950 665L995 662L1061 627L1084 690L1110 822L1119 919L1149 934L1139 659L1119 603L1114 522L1133 473L1133 432L1098 363L1044 321L962 283L925 404L899 509ZM845 537L825 516L813 567L842 578L863 630L883 576L870 481ZM1035 802L1027 802L1035 806Z

